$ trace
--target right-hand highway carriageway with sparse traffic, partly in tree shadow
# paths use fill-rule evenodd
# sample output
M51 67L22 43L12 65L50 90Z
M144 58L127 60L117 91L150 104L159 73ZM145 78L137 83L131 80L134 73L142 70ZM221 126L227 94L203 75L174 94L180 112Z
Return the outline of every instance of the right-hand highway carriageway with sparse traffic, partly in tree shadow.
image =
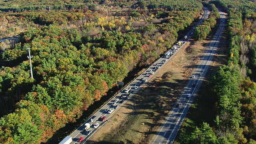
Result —
M220 26L209 46L205 48L206 51L203 58L198 63L197 68L192 73L192 76L184 88L180 98L165 117L163 124L158 129L158 132L155 134L150 144L172 144L174 142L180 126L195 98L195 94L200 88L208 68L212 63L212 58L218 53L218 44L220 43L226 23L226 16L224 16L223 12L220 12L220 20Z

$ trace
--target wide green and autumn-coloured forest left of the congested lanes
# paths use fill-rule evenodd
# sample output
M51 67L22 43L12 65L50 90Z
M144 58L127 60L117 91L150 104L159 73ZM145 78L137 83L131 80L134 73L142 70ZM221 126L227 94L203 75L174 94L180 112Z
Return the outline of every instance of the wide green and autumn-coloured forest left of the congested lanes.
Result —
M19 37L0 43L3 144L47 142L117 80L164 54L203 7L197 0L27 2L0 0L0 38Z

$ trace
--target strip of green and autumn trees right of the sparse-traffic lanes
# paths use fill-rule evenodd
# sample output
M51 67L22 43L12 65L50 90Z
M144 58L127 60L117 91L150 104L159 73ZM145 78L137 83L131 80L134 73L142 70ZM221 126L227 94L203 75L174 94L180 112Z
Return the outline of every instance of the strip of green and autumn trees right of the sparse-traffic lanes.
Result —
M256 4L247 0L209 3L228 13L229 57L209 82L216 100L214 123L196 124L180 143L256 144Z

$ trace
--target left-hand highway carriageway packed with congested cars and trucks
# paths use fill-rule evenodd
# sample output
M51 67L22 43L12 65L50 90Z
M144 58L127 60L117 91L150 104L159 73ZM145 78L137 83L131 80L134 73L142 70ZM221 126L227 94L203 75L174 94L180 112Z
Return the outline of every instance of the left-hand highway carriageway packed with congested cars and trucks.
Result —
M204 16L198 22L198 24L202 24L203 19L208 17L208 11L204 11ZM196 24L196 26L198 25ZM190 30L187 34L188 38L192 36L194 32L194 28ZM72 137L72 142L70 144L84 144L105 122L108 122L110 118L116 113L116 111L127 102L132 95L140 90L140 87L147 82L148 79L151 78L158 70L162 68L162 66L168 63L181 48L186 44L186 38L182 38L175 46L173 46L164 56L156 60L154 64L152 64L147 70L145 70L140 76L138 76L133 82L131 82L124 90L118 93L112 100L110 100L106 105L104 105L100 110L98 110L91 118L89 118L84 124L90 123L92 126L88 130L84 130L84 124L82 124L78 129L76 129L72 134L69 136ZM127 90L128 89L128 90ZM127 91L127 92L126 92ZM114 102L116 101L116 104ZM114 106L112 105L114 104ZM116 107L118 105L118 107ZM112 112L109 112L108 109L114 108ZM104 121L102 118L106 117ZM94 124L100 124L98 128L93 128ZM92 131L89 135L86 135L88 131ZM79 138L82 137L82 142L78 142Z

